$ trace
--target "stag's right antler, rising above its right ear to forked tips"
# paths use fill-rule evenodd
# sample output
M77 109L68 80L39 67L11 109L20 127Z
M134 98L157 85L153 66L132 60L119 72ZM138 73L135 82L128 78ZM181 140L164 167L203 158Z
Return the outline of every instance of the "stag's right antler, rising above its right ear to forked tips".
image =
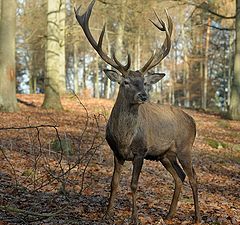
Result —
M160 25L156 24L152 20L150 20L154 26L156 26L159 30L165 31L166 33L166 39L160 49L159 52L154 52L150 59L146 62L146 64L140 69L140 72L142 74L146 73L148 70L159 64L169 53L170 48L171 48L171 35L172 35L172 30L173 30L173 23L171 17L168 15L167 10L165 10L165 13L167 15L167 20L168 20L168 27L166 27L166 24L161 20L157 13L154 11L158 22Z

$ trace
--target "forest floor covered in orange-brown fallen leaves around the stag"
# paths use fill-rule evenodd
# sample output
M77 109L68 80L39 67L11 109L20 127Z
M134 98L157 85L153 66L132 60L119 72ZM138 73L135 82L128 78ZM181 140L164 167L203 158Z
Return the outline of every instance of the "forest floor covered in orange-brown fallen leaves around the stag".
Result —
M113 156L105 136L113 102L65 96L63 112L40 108L43 95L18 95L17 113L0 113L0 224L128 224L131 163L123 169L112 221L107 205ZM185 110L196 120L193 162L202 224L240 224L240 122ZM142 224L192 224L193 198L184 183L178 210L163 222L174 183L158 162L139 179Z

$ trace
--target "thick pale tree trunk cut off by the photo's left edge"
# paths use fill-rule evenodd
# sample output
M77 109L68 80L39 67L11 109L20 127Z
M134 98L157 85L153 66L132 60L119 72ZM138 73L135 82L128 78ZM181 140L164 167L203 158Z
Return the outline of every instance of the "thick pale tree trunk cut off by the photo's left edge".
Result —
M18 110L15 68L16 1L1 1L0 111Z

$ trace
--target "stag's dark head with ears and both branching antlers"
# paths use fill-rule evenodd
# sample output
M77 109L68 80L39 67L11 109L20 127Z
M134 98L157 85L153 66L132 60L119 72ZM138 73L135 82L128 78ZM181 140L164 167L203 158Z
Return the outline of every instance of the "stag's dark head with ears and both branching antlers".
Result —
M79 15L80 7L75 9L76 19L79 25L82 27L83 32L85 33L89 43L97 51L99 56L109 65L111 65L115 70L104 70L106 76L113 82L120 84L119 94L125 96L128 99L130 104L141 104L148 100L149 89L152 84L157 83L161 80L165 74L164 73L150 73L153 67L158 65L169 53L171 48L171 35L173 30L172 19L168 15L167 11L166 16L168 20L168 25L161 20L158 15L155 13L158 24L150 20L157 29L165 32L166 39L160 49L157 49L145 65L137 70L130 70L131 66L131 57L128 54L127 63L123 65L117 58L115 53L113 53L112 58L110 58L102 49L102 42L105 33L105 25L103 26L102 32L100 34L98 42L93 38L92 33L89 29L89 18L92 13L95 0L93 0L88 6L87 11L83 15Z

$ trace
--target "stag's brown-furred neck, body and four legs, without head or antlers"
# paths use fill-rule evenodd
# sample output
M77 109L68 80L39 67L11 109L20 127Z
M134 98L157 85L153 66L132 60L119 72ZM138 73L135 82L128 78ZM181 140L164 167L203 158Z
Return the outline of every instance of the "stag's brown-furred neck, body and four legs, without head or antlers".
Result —
M134 79L139 78L131 79L133 82ZM141 86L136 80L134 82L135 86ZM130 160L133 161L132 219L135 224L137 223L136 190L138 178L143 159L150 159L161 161L175 181L174 195L167 218L171 218L176 211L186 173L193 190L195 221L199 222L197 180L191 161L192 145L196 136L196 125L193 118L181 109L172 106L150 102L132 104L129 96L134 96L135 92L139 90L132 88L127 92L124 89L127 88L121 84L106 130L106 140L115 155L107 214L113 208L122 165L124 161ZM179 162L182 167L179 166Z

